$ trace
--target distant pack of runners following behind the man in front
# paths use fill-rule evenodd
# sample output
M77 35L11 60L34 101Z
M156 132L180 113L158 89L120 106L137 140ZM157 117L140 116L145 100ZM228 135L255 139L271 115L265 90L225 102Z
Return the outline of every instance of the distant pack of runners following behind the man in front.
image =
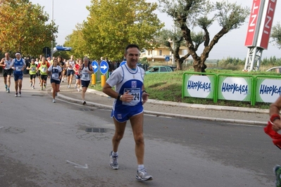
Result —
M15 97L21 96L22 82L23 82L23 70L29 70L30 74L30 87L35 89L36 77L39 78L39 85L41 90L46 88L47 79L49 77L53 103L56 103L56 96L61 82L67 77L68 88L70 88L75 76L75 89L82 91L82 104L85 105L85 93L89 86L91 75L94 72L92 65L89 63L87 57L83 59L74 60L74 56L70 56L70 60L63 60L61 56L51 58L45 58L39 56L39 58L32 59L30 64L25 63L25 59L22 58L20 52L15 53L15 58L12 59L9 53L5 53L5 57L1 59L0 66L3 67L3 77L5 90L10 93L11 75L15 81ZM82 86L82 89L80 89Z

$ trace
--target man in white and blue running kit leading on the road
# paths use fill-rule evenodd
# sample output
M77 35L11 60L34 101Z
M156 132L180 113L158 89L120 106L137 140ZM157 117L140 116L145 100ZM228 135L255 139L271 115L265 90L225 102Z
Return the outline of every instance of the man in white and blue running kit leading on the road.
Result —
M125 49L127 63L113 71L103 88L104 93L115 98L111 117L115 124L115 134L112 138L113 150L109 157L112 169L118 169L118 146L123 138L127 120L130 120L135 139L135 154L137 157L136 179L152 180L152 176L144 168L144 108L149 94L144 90L144 70L137 66L139 61L139 46L130 44ZM112 89L115 86L115 91Z

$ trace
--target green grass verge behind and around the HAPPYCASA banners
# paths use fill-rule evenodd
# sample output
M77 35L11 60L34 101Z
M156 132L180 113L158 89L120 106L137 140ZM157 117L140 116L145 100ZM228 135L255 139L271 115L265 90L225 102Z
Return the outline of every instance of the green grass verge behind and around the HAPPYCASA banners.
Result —
M212 73L223 73L223 74L235 74L235 75L277 75L272 72L241 72L232 70L212 70L208 71ZM158 74L148 74L144 77L144 85L147 93L149 93L149 98L153 98L159 101L173 101L177 103L194 103L202 105L224 105L224 106L234 106L234 107L244 107L244 108L261 108L268 109L270 103L256 103L256 105L251 105L250 102L242 101L226 101L218 100L217 103L213 102L213 99L206 98L182 98L182 75L183 71L176 71L171 73L158 73ZM101 84L98 83L95 86L90 86L91 89L96 89L101 91Z

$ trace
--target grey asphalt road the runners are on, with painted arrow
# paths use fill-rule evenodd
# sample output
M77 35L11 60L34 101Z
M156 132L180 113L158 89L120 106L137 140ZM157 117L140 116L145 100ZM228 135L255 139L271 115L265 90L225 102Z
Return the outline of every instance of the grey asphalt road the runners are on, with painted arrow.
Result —
M1 89L0 105L1 187L274 186L272 168L281 164L263 127L146 115L145 167L154 180L139 182L130 123L120 169L108 166L109 110L52 103L46 91L27 86L21 98Z

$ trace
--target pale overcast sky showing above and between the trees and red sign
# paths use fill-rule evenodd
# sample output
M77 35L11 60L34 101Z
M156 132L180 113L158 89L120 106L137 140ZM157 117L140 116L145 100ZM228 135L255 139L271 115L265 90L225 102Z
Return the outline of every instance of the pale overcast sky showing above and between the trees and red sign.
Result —
M52 0L30 0L33 4L40 4L44 6L44 11L49 13L51 19L52 13ZM156 0L146 0L146 1L154 1ZM216 1L216 0L211 0ZM237 2L237 4L242 6L248 6L251 8L251 5L254 0L228 0L229 2ZM268 0L266 0L268 1ZM71 34L73 30L75 30L75 25L77 23L82 23L83 20L86 20L89 12L86 9L86 6L91 4L90 0L54 0L54 21L56 25L58 25L58 38L56 42L60 45L64 44L65 37L68 34ZM281 4L277 3L277 9L281 8ZM173 20L168 17L165 13L160 13L156 11L158 14L158 18L165 22L166 28L173 28ZM273 25L281 20L281 11L275 11L275 18L273 20ZM249 18L246 18L246 22L242 27L237 30L232 30L231 32L225 34L222 37L216 46L212 49L208 59L222 59L227 57L232 58L246 58L246 53L248 48L244 46L244 42L246 39L246 29L248 27ZM209 32L211 34L211 39L213 36L220 30L220 27L215 24L209 28ZM198 50L198 54L200 55L202 48ZM281 58L280 50L277 49L273 44L268 45L268 50L263 51L263 58L270 58L270 56L276 56L277 58Z

